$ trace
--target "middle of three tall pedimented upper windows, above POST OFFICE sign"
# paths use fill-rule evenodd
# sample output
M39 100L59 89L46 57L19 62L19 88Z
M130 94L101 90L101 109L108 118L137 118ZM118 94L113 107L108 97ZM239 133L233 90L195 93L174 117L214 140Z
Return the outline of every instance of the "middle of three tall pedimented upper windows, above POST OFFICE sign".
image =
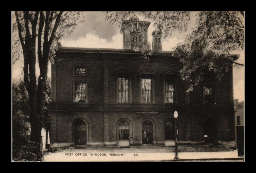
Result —
M140 79L141 83L141 102L152 103L152 80Z

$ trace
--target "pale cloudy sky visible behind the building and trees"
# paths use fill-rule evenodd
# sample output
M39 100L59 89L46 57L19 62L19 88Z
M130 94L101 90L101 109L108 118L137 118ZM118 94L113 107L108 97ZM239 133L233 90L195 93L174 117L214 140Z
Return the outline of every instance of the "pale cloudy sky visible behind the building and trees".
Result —
M185 35L189 34L193 27L195 27L196 12L191 15L191 21L189 23L187 32L173 32L171 36L162 39L162 50L173 51L173 48L184 40ZM120 28L114 24L110 24L105 20L104 14L99 11L85 11L83 13L85 22L78 25L76 29L71 33L69 38L60 40L63 47L87 47L87 48L123 48L123 35L120 32ZM140 21L150 21L138 14ZM128 20L129 18L127 18ZM153 21L148 27L148 42L152 45L151 33L155 30ZM237 60L239 63L244 64L244 51L234 51L231 54L240 54L240 58ZM15 62L12 66L12 78L18 79L22 76L22 58ZM49 64L48 77L51 77L51 65ZM39 75L39 67L37 63L36 75ZM244 66L233 67L233 84L234 84L234 99L244 101Z

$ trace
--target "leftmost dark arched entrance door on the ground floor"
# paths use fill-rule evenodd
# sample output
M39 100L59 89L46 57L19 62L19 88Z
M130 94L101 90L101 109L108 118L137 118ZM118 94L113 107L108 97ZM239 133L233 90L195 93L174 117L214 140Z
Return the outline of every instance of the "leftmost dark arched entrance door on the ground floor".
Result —
M75 145L86 145L86 123L82 120L75 122Z

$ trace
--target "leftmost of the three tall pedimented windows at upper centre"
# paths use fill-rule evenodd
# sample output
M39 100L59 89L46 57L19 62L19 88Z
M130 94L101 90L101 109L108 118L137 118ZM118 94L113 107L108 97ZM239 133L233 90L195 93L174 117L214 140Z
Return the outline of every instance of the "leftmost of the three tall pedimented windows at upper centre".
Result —
M118 103L129 103L129 78L118 78Z

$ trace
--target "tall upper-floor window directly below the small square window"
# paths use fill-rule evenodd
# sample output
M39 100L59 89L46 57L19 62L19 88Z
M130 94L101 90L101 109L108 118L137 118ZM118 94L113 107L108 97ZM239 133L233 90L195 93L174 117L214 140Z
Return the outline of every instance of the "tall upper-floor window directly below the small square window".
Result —
M86 83L75 83L75 102L87 102Z

